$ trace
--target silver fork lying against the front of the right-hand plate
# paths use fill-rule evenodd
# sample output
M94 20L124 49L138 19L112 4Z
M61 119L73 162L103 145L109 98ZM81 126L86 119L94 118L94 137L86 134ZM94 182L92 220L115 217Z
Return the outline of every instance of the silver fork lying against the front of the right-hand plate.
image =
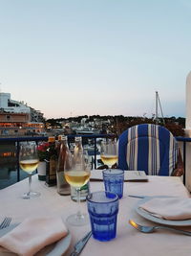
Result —
M180 230L180 229L176 229L173 227L168 227L168 226L164 226L164 225L159 225L159 226L146 226L146 225L140 225L138 223L136 223L133 220L129 220L129 223L135 227L136 229L138 229L138 231L142 232L142 233L153 233L155 232L157 229L166 229L166 230L170 230L170 231L174 231L177 233L180 233L182 235L187 235L187 236L191 236L191 232L189 231L184 231L184 230Z

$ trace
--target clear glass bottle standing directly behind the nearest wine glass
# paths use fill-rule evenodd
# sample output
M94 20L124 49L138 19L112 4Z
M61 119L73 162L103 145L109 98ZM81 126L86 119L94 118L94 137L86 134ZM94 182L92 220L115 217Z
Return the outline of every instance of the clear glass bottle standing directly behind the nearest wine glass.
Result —
M74 138L75 146L74 146L74 157L77 159L79 164L81 164L83 161L87 160L85 159L87 156L86 153L83 151L82 146L82 138L81 137L75 137ZM90 182L85 184L83 187L80 188L80 201L85 201L86 197L88 196L90 191ZM77 192L74 187L71 187L71 198L74 201L77 201Z

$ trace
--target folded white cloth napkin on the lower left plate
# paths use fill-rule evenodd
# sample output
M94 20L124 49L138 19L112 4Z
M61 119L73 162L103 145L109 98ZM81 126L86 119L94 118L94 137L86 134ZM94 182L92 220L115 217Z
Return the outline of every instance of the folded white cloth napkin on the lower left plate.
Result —
M0 245L22 256L32 256L68 231L61 218L29 218L0 238Z

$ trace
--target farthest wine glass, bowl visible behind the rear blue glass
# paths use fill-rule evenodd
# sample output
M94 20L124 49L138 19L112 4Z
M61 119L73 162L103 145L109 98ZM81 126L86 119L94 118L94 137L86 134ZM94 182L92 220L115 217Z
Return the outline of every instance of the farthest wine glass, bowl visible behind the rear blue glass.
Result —
M117 141L108 139L101 142L100 157L102 162L112 169L112 166L117 163Z

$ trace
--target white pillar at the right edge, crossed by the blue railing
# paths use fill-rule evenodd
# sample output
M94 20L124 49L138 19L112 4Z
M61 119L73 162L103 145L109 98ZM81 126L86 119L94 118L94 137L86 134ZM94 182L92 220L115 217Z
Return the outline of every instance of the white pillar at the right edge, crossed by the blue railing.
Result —
M186 79L186 116L185 137L191 137L191 72ZM186 187L191 191L191 142L186 143Z

